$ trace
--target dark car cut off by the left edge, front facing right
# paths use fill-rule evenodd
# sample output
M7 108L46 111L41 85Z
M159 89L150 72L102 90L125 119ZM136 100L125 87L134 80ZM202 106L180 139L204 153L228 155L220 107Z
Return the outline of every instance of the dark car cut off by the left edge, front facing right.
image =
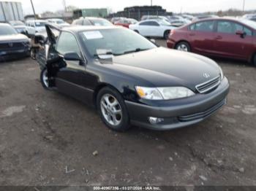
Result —
M7 23L0 23L0 61L7 61L30 53L30 40L23 34L18 34Z

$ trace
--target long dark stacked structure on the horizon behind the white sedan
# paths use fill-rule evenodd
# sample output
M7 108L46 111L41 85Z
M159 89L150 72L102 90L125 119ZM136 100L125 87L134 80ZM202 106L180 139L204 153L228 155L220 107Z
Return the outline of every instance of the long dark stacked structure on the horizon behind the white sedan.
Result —
M136 6L126 7L124 11L116 12L108 15L108 17L128 17L140 20L143 15L173 15L172 12L166 12L166 9L162 9L160 6Z

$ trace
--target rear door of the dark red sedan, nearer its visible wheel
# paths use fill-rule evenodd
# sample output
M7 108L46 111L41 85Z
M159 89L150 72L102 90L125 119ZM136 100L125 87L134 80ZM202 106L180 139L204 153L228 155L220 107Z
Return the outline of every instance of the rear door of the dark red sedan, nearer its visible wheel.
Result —
M188 37L192 51L211 54L214 52L214 20L204 20L189 26Z

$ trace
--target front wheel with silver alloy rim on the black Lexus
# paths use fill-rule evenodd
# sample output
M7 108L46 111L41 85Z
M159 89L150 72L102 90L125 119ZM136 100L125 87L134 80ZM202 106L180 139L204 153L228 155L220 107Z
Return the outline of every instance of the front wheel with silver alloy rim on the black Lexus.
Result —
M99 90L97 110L102 121L111 130L125 131L129 129L129 114L124 104L124 98L113 88L103 87Z

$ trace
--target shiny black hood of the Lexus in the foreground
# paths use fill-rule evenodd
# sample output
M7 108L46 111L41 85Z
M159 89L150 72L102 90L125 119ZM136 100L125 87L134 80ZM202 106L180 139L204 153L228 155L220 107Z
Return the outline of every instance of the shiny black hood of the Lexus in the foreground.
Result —
M220 74L217 63L209 58L164 47L115 56L112 65L157 87L181 85L192 90Z

